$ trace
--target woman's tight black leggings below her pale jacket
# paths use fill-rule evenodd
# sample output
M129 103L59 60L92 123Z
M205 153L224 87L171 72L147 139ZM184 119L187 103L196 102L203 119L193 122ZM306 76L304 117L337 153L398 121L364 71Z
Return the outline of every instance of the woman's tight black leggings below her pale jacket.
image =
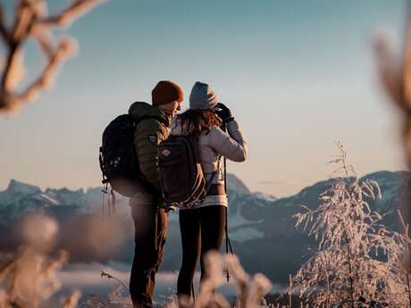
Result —
M209 205L198 209L181 210L179 215L182 262L177 281L177 294L190 296L198 255L200 255L202 280L206 277L205 254L213 249L220 250L222 246L226 208L222 205Z

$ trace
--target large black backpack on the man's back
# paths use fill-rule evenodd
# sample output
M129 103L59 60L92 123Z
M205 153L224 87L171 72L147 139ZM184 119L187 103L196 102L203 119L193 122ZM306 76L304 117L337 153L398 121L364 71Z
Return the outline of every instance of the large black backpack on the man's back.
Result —
M138 122L145 119L153 117L144 117ZM134 195L139 187L155 190L139 170L134 146L134 131L138 122L132 121L129 114L118 116L105 128L100 146L99 162L103 184L110 183L123 196Z

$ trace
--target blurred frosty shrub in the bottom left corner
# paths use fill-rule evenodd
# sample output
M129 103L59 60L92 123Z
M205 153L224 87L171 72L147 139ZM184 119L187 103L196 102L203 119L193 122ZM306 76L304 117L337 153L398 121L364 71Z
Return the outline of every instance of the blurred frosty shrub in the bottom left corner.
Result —
M58 225L50 217L36 214L22 226L28 235L26 246L14 255L0 258L0 308L37 308L55 291L61 282L56 273L68 260L68 254L59 252L54 257L46 254L52 246ZM55 307L75 307L80 291L73 291L61 304Z

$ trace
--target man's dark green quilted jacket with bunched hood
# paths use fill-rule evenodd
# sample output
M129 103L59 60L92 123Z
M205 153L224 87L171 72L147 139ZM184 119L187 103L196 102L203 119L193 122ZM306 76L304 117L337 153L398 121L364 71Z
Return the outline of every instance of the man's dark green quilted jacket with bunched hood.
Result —
M157 171L157 145L169 136L172 114L143 102L131 104L129 114L134 121L138 121L134 132L134 146L140 171L161 191Z

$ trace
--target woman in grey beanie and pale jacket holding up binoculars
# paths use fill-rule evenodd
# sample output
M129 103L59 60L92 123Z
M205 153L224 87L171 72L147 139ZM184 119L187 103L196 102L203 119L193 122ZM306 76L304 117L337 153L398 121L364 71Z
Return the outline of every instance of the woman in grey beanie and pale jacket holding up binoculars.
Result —
M227 132L221 127L225 127ZM190 296L198 254L201 279L205 279L204 256L210 250L220 250L222 245L228 200L224 191L221 156L234 162L244 162L247 147L230 109L218 103L211 87L198 81L189 96L189 110L174 118L171 134L197 137L198 158L207 183L212 183L200 204L179 212L182 262L177 294L180 298Z

